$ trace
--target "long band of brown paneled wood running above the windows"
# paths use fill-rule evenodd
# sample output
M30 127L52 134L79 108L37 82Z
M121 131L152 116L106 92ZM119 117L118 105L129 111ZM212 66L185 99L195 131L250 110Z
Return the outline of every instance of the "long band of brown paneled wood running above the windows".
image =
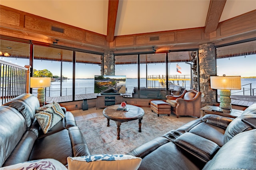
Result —
M182 50L198 48L204 43L222 45L256 39L256 10L219 23L216 31L211 33L204 33L205 28L198 27L116 36L110 43L106 41L106 35L2 5L0 5L0 24L0 35L50 44L55 39L59 39L58 45L101 53L111 50L115 54L149 51L152 46L156 50ZM52 27L62 29L63 33L53 31Z

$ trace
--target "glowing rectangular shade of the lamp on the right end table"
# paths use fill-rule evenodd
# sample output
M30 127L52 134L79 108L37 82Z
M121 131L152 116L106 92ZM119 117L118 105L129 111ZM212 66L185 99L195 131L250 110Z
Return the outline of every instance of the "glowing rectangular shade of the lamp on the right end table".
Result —
M210 76L211 88L222 90L240 90L241 76Z

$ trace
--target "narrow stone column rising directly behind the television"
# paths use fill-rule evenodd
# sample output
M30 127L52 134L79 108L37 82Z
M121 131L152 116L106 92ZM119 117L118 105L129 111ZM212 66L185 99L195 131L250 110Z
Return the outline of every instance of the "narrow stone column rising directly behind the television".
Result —
M104 51L104 61L102 67L102 75L115 75L113 51Z

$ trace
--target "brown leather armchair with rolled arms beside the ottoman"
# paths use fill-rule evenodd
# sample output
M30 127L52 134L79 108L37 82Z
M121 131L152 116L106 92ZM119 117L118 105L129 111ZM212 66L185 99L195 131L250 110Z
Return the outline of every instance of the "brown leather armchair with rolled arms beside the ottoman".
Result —
M200 117L202 92L196 90L184 90L180 96L166 95L166 103L170 104L171 111L179 118L179 115Z

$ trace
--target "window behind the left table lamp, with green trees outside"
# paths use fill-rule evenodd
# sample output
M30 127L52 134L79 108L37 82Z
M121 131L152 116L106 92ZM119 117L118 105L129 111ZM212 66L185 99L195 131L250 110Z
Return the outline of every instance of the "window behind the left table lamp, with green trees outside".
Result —
M51 86L45 92L46 102L53 97L60 97L56 102L72 101L72 59L73 51L34 45L34 76L51 77ZM33 94L36 93L33 89Z

